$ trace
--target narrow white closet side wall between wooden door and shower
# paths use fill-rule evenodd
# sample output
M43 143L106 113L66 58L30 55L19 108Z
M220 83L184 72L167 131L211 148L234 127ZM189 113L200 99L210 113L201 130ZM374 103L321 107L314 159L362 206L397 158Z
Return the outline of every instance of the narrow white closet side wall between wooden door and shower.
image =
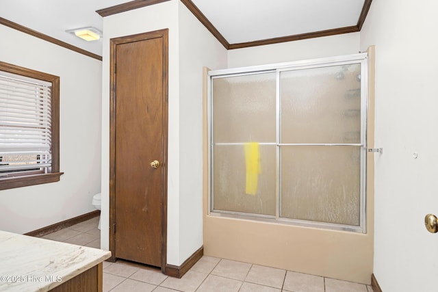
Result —
M203 66L227 66L227 50L179 3L179 262L203 245Z

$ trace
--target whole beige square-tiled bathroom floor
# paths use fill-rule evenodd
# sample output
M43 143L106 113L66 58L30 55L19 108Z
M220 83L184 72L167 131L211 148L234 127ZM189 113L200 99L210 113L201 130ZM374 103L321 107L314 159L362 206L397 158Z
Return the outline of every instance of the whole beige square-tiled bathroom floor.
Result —
M99 218L42 238L99 248ZM181 279L124 261L103 263L103 291L129 292L372 292L371 286L203 256Z

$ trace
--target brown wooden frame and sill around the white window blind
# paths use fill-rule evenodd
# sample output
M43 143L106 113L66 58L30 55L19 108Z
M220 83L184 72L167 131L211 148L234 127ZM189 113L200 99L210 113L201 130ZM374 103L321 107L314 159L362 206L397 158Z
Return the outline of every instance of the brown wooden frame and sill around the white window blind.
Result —
M64 172L60 172L60 77L50 75L44 72L32 70L0 62L0 71L10 72L12 74L21 75L23 77L30 77L47 81L52 84L51 92L51 152L52 165L51 172L44 174L35 174L35 172L28 172L22 176L12 176L8 178L0 178L1 189L14 189L16 187L27 187L29 185L40 185L43 183L54 183L60 181L60 176Z

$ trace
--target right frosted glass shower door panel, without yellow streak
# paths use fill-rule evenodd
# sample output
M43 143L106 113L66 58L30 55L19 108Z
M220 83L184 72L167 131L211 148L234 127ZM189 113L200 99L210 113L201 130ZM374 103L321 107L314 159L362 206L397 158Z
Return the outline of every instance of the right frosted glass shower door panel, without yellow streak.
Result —
M280 73L280 217L359 226L361 64Z

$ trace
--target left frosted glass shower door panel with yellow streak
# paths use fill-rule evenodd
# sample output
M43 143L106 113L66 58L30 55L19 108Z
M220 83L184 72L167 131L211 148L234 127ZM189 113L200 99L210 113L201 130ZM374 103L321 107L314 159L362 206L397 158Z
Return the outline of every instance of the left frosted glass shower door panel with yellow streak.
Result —
M276 74L212 80L212 211L276 215Z

